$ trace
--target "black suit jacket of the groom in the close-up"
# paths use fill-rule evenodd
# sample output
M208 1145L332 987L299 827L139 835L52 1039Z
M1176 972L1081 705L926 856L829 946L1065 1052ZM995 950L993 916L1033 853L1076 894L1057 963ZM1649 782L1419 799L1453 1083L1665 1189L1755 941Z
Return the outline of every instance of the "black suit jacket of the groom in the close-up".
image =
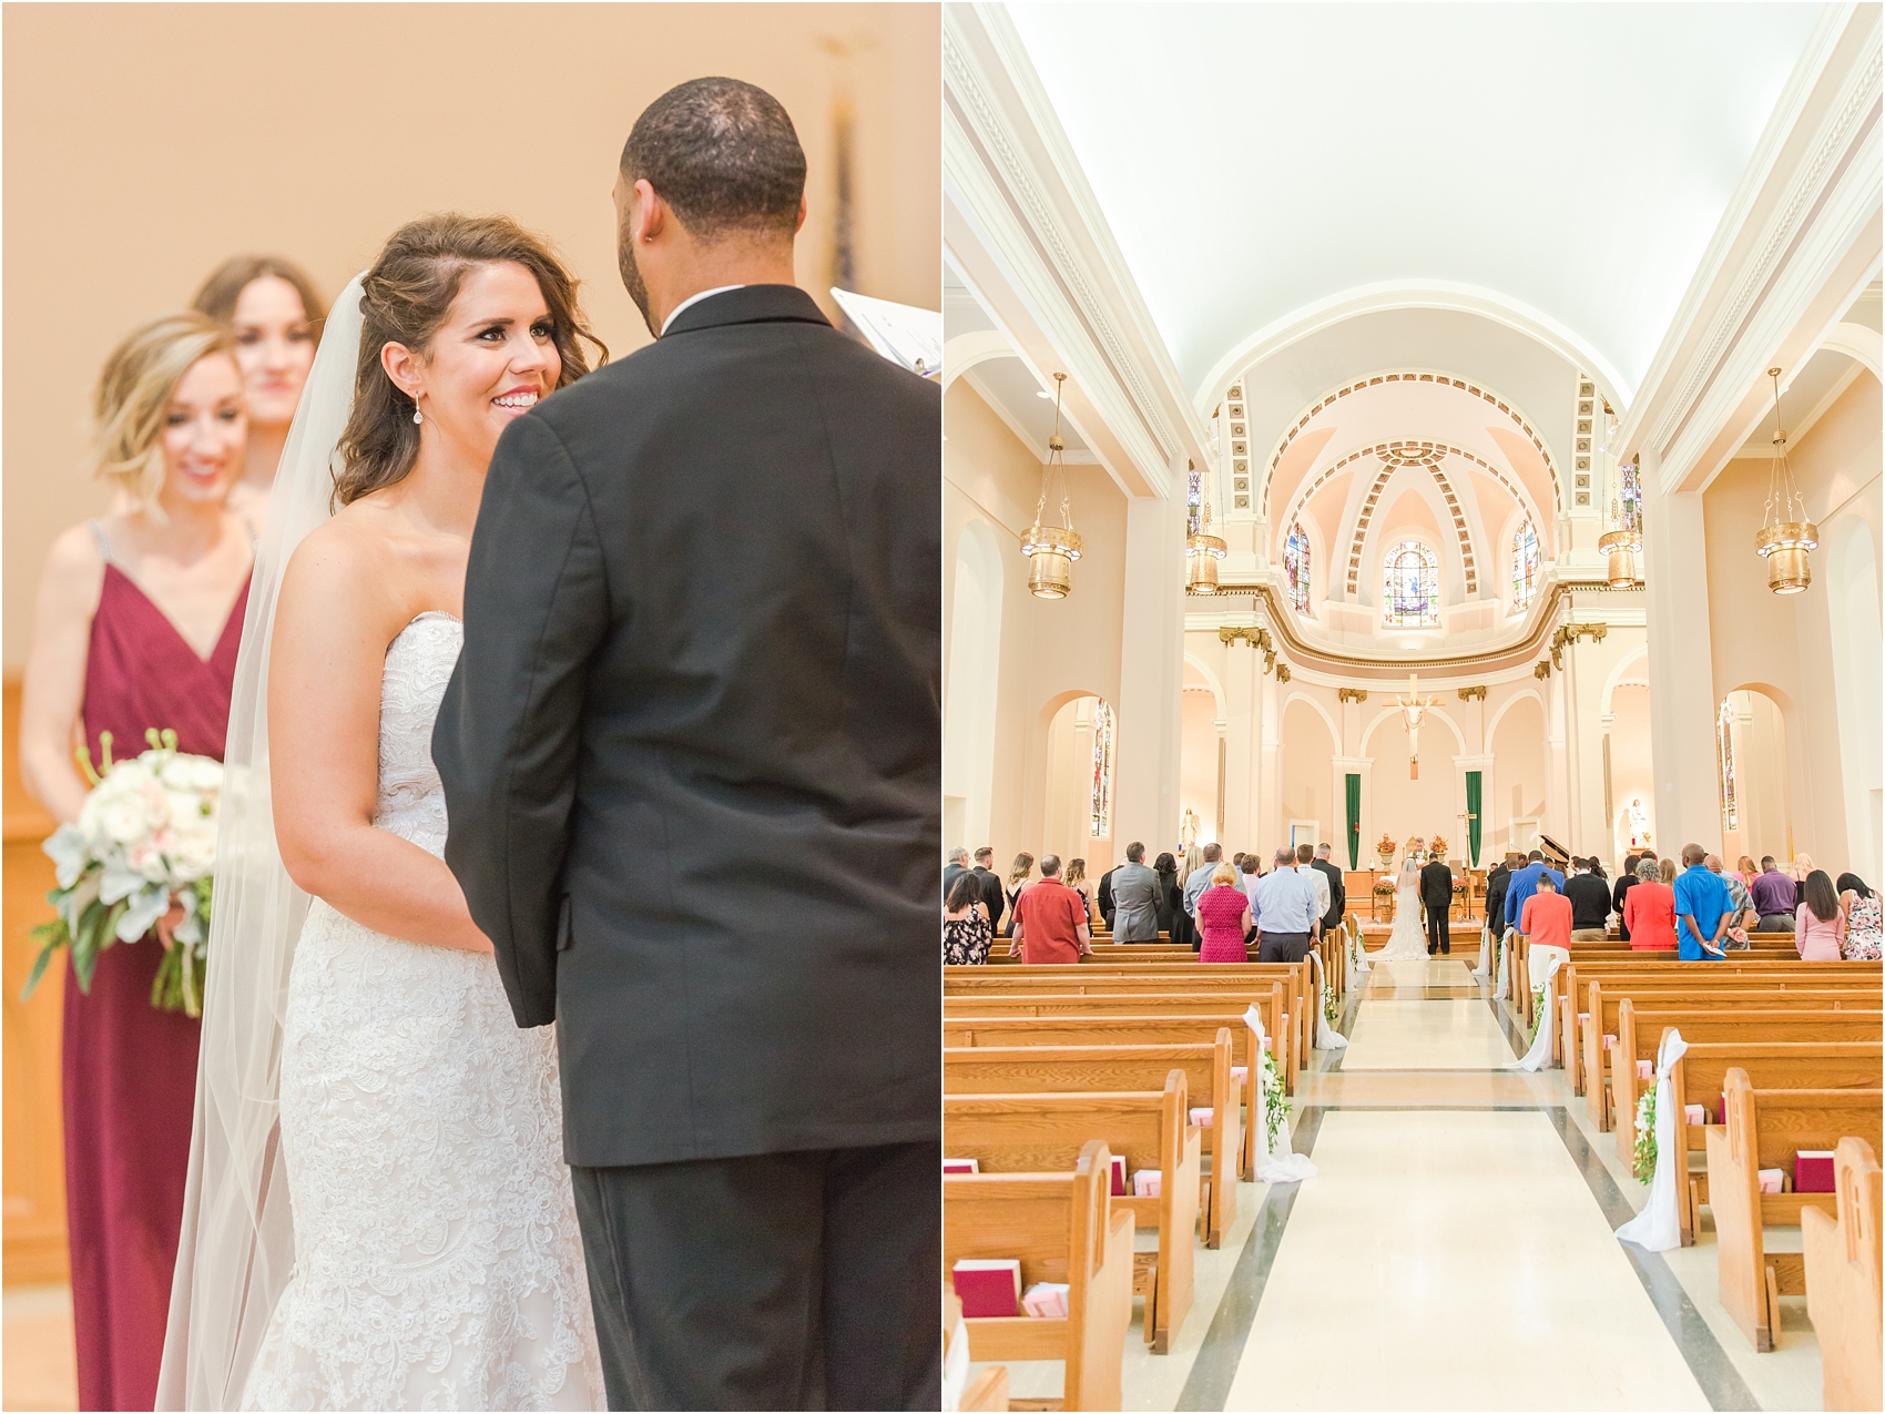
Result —
M432 752L569 1163L937 1137L939 434L754 285L498 441Z

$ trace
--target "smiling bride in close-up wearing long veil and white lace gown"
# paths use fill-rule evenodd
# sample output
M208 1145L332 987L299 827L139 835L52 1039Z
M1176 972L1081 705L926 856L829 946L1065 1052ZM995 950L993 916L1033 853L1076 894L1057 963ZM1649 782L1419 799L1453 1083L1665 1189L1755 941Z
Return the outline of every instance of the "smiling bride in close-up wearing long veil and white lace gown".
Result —
M158 1408L605 1406L554 1031L432 765L484 469L581 337L501 217L403 226L328 322L238 666Z

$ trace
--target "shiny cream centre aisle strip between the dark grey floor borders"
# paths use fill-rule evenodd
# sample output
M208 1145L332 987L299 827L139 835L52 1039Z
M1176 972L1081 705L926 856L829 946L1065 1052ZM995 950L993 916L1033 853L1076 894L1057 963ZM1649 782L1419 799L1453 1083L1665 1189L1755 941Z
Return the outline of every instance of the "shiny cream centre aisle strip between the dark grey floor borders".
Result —
M1457 960L1370 975L1221 1408L1710 1406L1474 994Z

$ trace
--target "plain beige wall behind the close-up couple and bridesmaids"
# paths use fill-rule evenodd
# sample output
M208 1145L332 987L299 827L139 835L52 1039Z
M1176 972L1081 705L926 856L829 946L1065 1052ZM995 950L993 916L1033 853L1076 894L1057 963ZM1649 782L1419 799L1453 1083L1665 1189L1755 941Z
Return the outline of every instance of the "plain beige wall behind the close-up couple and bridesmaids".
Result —
M332 296L409 217L503 211L556 241L631 353L648 334L615 268L622 141L675 83L728 74L805 143L799 283L829 307L848 89L856 285L941 304L931 4L45 4L0 25L8 671L47 543L106 501L79 471L98 366L236 251L288 255Z

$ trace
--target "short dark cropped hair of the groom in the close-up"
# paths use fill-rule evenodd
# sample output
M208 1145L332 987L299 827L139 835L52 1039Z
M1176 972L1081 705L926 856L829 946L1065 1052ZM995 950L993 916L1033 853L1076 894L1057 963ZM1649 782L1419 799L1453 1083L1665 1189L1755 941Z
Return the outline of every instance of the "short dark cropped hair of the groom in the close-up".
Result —
M647 179L690 232L797 228L805 149L784 106L739 79L690 79L648 104L622 147L622 177Z

